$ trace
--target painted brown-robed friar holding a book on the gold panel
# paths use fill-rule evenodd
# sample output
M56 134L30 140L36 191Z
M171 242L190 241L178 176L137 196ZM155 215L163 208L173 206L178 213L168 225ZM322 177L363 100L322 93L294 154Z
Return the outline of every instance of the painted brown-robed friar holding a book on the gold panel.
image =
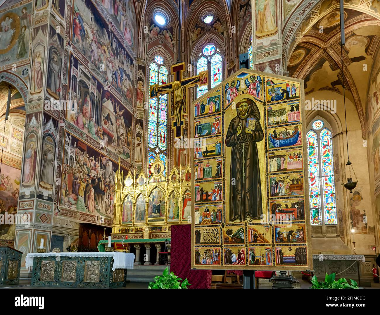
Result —
M228 126L226 146L231 147L230 222L260 219L261 182L256 142L263 140L260 112L253 100L236 104L237 116ZM254 120L254 121L253 121ZM249 129L251 126L254 129Z

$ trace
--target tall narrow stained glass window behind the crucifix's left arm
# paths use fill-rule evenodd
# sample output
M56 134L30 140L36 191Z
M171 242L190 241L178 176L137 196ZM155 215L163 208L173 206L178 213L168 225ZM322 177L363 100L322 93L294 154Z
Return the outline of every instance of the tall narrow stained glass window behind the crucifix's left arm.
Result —
M168 69L163 63L164 60L161 56L154 57L154 62L149 65L149 85L168 82ZM165 151L168 142L168 94L160 94L158 97L149 99L148 113L148 146L156 153L161 150ZM151 164L152 154L152 152L148 154L148 169L149 164ZM166 167L166 163L164 165Z

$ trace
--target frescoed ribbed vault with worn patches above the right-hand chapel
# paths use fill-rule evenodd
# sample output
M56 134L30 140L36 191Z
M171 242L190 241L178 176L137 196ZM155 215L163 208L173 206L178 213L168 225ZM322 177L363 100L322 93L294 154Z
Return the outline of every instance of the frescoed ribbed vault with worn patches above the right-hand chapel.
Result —
M305 93L327 90L355 103L362 129L374 54L379 47L380 20L367 13L345 9L345 46L341 51L339 10L322 15L299 38L287 63L289 76L305 81ZM342 58L344 60L344 78ZM344 83L343 83L344 82Z

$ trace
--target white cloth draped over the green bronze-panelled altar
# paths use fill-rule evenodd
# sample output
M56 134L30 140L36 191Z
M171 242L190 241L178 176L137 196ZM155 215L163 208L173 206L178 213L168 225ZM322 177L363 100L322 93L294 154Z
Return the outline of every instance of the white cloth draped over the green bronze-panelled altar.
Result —
M34 257L55 257L57 261L63 257L113 257L115 269L133 269L135 254L121 253L120 251L94 252L94 253L28 253L25 257L25 267L33 266Z

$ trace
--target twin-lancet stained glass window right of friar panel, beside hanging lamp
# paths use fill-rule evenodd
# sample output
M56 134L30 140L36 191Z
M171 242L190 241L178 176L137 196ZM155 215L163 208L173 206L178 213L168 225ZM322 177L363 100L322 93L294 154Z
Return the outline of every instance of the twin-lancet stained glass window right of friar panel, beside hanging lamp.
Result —
M337 224L332 135L326 127L319 132L323 126L323 121L314 121L312 127L318 134L309 130L306 135L312 225Z

